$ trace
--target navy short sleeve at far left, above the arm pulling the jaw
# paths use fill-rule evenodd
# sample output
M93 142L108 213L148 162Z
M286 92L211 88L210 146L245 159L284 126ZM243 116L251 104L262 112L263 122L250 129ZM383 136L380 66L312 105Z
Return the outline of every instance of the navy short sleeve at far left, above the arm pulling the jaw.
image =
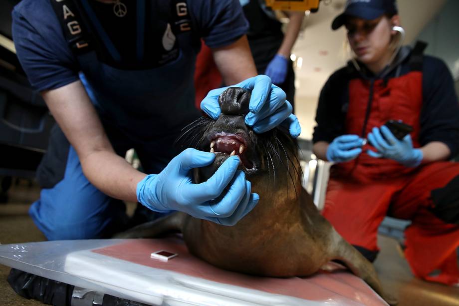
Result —
M49 1L22 1L12 11L16 54L30 84L38 91L78 79L78 66Z

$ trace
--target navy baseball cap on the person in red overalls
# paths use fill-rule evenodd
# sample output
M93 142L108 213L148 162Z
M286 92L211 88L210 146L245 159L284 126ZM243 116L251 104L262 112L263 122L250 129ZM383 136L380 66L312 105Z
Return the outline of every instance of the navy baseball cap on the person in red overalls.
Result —
M331 28L339 28L346 22L347 16L373 20L385 13L397 14L396 0L347 0L344 12L333 19Z

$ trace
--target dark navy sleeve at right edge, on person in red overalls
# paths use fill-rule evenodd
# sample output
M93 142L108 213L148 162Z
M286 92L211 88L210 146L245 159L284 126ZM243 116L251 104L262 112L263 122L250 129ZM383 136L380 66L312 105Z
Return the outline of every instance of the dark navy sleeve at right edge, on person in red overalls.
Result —
M453 76L439 58L424 57L423 98L421 145L443 142L451 150L450 157L455 157L459 153L459 102Z

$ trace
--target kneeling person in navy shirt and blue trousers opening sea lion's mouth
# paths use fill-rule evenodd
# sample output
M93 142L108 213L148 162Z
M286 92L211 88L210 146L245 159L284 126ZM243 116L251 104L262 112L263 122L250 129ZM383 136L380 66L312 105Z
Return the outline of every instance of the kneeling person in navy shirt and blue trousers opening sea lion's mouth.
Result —
M17 56L58 124L37 170L40 199L29 211L49 240L123 230L122 201L230 226L263 196L251 193L238 156L207 182L193 184L190 169L215 155L172 146L200 115L193 72L201 38L225 83L252 91L245 122L255 132L283 124L292 136L300 133L285 93L269 77L256 76L237 0L22 0L12 17ZM88 39L66 39L81 29ZM223 90L201 103L214 119ZM130 148L146 173L123 158ZM228 184L230 192L214 200Z

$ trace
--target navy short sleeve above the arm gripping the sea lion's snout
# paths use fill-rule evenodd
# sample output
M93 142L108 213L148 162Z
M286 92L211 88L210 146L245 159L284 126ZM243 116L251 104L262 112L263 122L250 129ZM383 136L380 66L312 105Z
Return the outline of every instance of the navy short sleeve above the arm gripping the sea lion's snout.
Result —
M248 30L238 0L195 0L190 9L201 36L211 48L229 45Z

